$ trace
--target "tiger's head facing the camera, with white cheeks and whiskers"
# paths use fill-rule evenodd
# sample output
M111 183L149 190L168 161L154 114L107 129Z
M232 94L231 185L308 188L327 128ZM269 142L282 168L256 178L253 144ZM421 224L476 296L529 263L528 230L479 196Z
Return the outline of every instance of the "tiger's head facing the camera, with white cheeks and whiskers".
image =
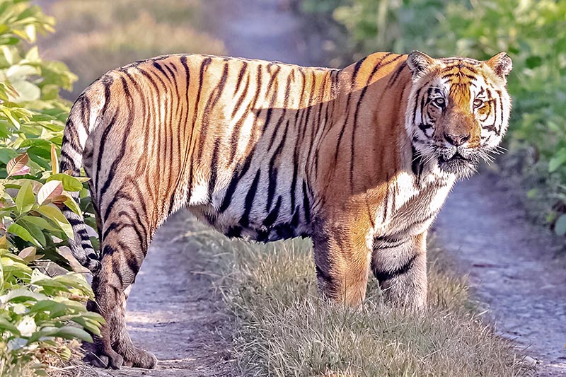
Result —
M412 89L405 124L417 155L458 177L473 173L480 158L490 161L511 112L507 54L480 62L413 51L407 65Z

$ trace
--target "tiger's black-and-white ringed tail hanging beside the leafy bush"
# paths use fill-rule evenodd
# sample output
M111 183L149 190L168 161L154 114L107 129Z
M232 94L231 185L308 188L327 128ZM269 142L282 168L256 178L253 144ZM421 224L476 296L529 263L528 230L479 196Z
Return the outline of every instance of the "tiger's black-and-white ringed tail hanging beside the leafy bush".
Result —
M74 177L81 175L83 151L90 132L90 125L85 123L85 120L88 122L89 119L88 115L84 116L86 111L89 111L88 98L83 93L74 103L63 132L59 171L64 173L70 170ZM95 122L99 122L100 117L96 118ZM70 194L76 202L79 201L79 192ZM100 254L93 248L82 214L76 214L69 207L64 206L63 215L73 228L74 239L69 239L72 255L83 267L96 274L100 270Z

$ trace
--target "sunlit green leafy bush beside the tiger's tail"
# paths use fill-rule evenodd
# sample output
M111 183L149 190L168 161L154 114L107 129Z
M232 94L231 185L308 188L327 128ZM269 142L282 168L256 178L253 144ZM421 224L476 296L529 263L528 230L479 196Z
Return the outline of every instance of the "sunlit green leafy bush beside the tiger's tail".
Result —
M93 293L59 253L73 233L59 207L81 213L70 192L81 180L57 171L69 103L59 98L76 77L40 58L37 33L54 20L25 0L0 1L0 375L42 373L49 354L68 358L64 340L91 340L103 319L83 305ZM27 48L26 48L27 47ZM70 325L74 323L74 325Z

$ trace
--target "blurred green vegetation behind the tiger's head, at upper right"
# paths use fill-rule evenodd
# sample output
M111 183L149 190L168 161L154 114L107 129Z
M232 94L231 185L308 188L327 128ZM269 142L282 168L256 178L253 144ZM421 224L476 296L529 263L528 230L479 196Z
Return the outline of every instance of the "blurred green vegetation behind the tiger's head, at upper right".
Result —
M334 64L376 51L513 59L512 122L499 158L524 185L531 214L566 233L566 1L299 0L301 11L345 35Z

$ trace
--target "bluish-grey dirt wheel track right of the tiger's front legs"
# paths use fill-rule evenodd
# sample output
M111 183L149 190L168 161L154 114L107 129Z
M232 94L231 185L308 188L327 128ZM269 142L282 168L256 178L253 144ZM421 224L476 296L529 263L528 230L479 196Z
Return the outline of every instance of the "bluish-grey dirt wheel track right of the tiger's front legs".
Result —
M539 376L566 376L566 262L518 195L490 174L459 182L434 228L498 332L539 360Z

